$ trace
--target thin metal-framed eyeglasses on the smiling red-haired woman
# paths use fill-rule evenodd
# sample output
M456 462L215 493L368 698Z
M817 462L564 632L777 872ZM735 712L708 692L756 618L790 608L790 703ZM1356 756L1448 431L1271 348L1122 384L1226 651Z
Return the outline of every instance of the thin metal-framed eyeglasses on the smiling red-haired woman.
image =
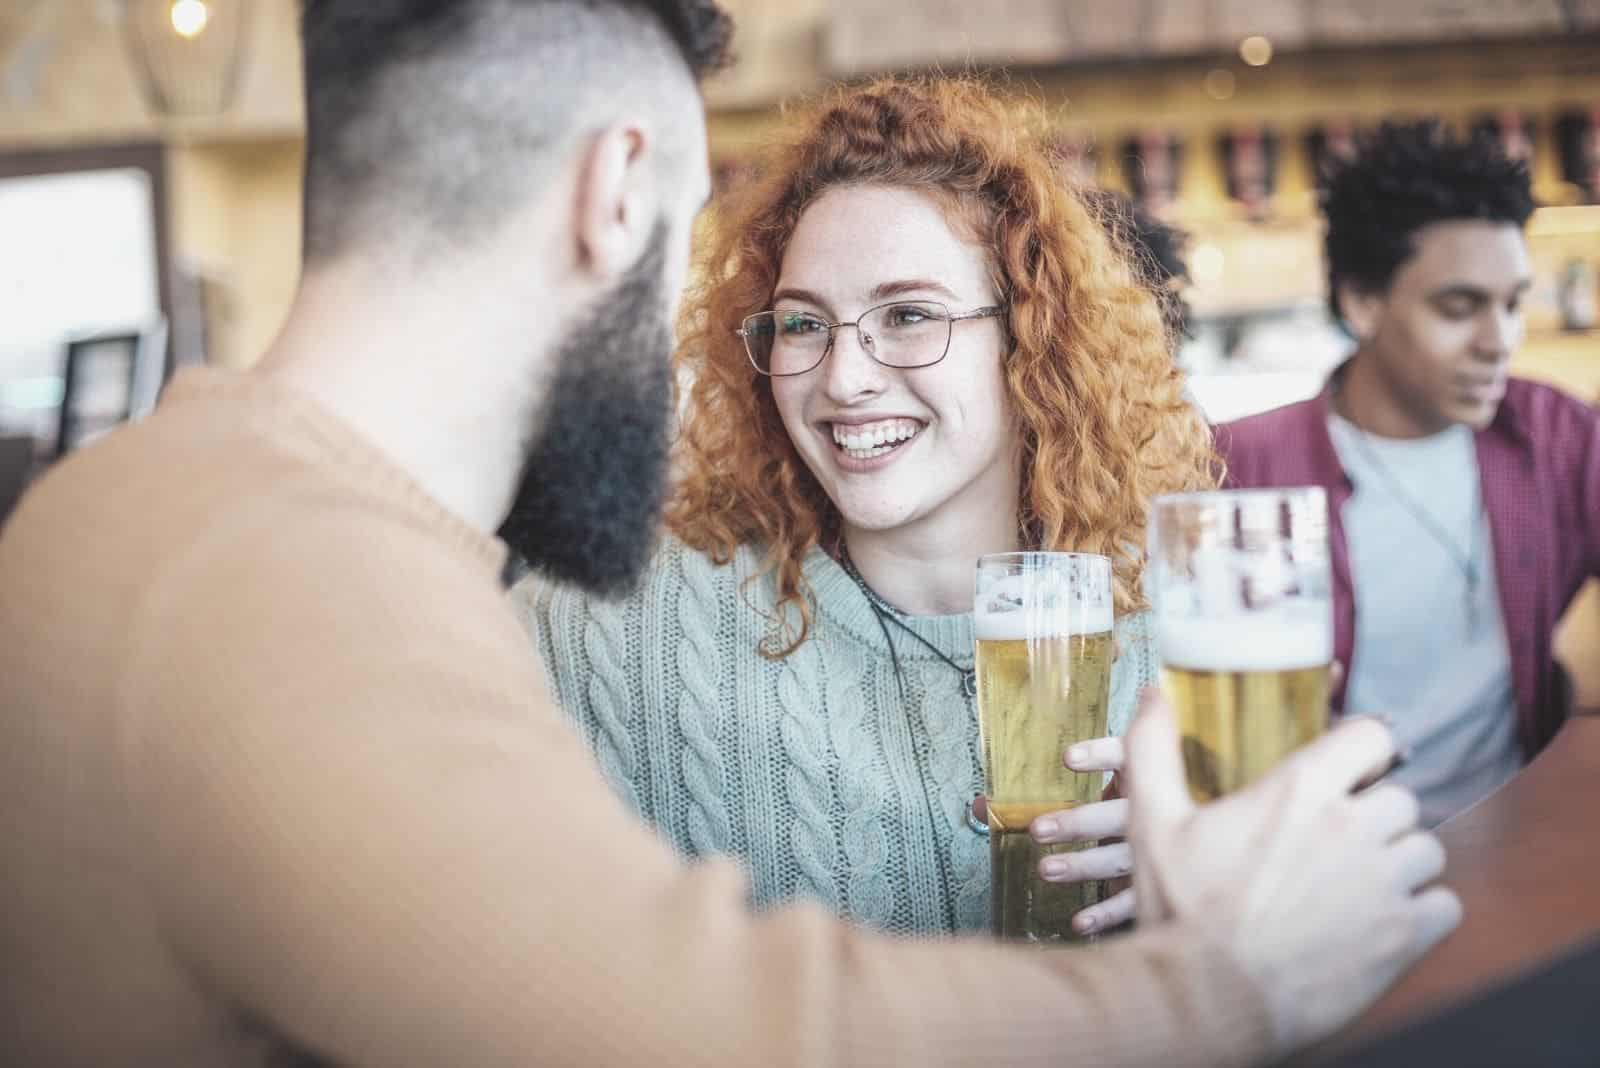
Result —
M750 365L770 377L805 374L834 347L834 331L854 326L861 347L886 368L928 368L950 350L954 323L1005 315L1003 307L950 312L938 301L894 301L861 313L854 323L829 323L810 312L757 312L733 331L744 339Z

